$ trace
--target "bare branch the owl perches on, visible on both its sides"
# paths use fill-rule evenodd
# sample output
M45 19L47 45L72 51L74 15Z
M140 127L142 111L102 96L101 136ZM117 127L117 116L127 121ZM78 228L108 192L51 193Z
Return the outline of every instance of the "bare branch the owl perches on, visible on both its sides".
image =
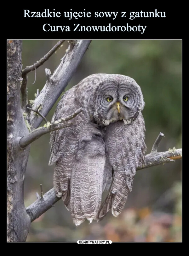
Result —
M161 165L174 161L174 159L181 159L182 149L173 149L165 152L150 153L146 155L146 164L138 167L137 170L145 169L154 165ZM31 222L41 216L44 212L50 209L54 203L60 200L61 197L57 197L54 192L54 188L49 190L41 198L37 199L34 203L26 208L26 212L31 218Z

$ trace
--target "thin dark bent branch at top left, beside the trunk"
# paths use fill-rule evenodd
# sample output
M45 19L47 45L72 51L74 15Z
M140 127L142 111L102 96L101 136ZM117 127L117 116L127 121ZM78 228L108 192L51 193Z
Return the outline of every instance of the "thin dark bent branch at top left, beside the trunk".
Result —
M60 40L58 43L55 44L55 46L43 56L39 61L37 61L35 64L31 66L27 66L23 71L22 71L22 85L21 85L21 95L22 95L22 109L25 109L26 105L28 104L27 100L27 90L26 90L26 85L27 85L27 74L30 71L36 70L39 66L43 65L43 63L50 58L50 56L53 55L53 53L60 47L61 44L63 44L65 40Z

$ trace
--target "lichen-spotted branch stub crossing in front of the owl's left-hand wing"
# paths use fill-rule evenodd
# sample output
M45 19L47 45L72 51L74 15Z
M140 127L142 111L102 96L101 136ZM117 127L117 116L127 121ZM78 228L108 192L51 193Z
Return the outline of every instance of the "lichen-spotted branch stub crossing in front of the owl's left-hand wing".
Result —
M38 138L40 138L43 134L61 129L61 128L66 128L69 127L71 125L73 125L73 123L68 122L69 120L72 120L75 116L77 116L81 111L83 111L82 108L77 109L74 113L72 113L71 115L65 117L65 118L61 118L57 121L55 121L53 124L51 124L50 122L48 122L45 127L40 127L38 129L33 130L31 133L27 134L26 136L22 137L20 139L20 147L24 148L26 146L28 146L31 142L37 140Z

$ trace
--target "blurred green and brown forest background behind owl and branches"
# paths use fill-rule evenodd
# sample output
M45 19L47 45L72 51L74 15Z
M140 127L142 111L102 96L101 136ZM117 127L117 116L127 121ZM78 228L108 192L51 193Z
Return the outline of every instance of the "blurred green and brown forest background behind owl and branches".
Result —
M44 56L58 40L24 40L23 68ZM67 41L57 52L28 75L28 98L33 100L42 90L45 68L53 73L67 49ZM93 40L66 90L94 73L114 73L130 76L140 85L145 100L143 116L146 122L147 153L157 135L165 137L158 151L181 148L181 40ZM47 120L51 121L57 103ZM43 124L43 123L42 123ZM40 193L53 187L54 166L48 166L49 135L31 144L25 175L25 206ZM75 227L71 214L62 200L31 223L27 241L181 241L181 160L158 165L136 173L133 190L125 209L117 217L111 212L101 221L85 221Z

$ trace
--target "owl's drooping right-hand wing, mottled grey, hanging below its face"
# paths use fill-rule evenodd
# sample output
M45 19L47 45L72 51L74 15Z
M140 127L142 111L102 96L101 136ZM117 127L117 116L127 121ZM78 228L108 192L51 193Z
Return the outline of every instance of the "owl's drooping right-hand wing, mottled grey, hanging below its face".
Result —
M106 129L105 143L108 159L113 167L113 180L110 192L102 204L98 219L112 209L118 216L132 190L137 166L144 163L146 151L145 125L142 114L137 119L124 125L123 121L110 124Z

